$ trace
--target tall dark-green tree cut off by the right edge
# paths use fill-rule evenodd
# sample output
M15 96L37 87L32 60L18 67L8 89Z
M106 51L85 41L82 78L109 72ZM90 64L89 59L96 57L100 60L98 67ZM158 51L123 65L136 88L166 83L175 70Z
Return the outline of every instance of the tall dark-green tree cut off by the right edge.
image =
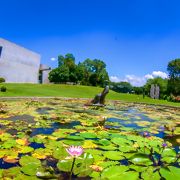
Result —
M180 95L180 59L170 61L167 71L169 72L168 93L178 96Z

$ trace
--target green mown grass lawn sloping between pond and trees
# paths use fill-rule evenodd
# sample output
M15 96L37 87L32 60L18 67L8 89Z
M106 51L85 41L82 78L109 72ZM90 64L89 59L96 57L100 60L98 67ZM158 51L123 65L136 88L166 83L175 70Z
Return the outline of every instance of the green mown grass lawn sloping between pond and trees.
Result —
M60 84L14 84L5 83L7 92L0 92L0 97L72 97L72 98L93 98L102 91L102 88L78 85ZM162 104L179 106L180 103L168 102L165 100L154 100L149 97L143 99L142 95L123 94L110 91L107 95L109 100L122 100L128 102L139 102L149 104Z

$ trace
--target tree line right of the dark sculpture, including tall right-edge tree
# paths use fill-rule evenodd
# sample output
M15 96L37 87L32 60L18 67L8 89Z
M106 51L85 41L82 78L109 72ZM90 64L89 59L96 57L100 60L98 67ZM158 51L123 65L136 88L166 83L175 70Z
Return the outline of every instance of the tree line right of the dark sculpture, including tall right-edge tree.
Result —
M142 87L134 87L129 82L111 82L111 89L120 93L134 93L150 96L151 85L158 85L160 99L180 101L180 59L172 60L167 65L168 78L148 79Z

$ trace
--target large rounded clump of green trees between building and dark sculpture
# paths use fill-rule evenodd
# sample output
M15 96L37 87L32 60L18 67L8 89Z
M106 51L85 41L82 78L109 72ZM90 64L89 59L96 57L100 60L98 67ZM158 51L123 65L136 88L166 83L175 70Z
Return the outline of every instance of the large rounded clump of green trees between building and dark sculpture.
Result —
M66 54L58 56L58 68L50 72L49 80L55 83L69 81L83 85L105 86L109 76L103 61L86 59L76 65L75 57L72 54Z

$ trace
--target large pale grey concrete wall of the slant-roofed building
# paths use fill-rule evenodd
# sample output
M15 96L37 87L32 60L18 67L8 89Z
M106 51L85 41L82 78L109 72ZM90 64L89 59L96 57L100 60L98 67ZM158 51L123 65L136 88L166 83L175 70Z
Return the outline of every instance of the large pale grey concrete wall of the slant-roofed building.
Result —
M38 83L40 55L0 38L0 77L6 82Z

